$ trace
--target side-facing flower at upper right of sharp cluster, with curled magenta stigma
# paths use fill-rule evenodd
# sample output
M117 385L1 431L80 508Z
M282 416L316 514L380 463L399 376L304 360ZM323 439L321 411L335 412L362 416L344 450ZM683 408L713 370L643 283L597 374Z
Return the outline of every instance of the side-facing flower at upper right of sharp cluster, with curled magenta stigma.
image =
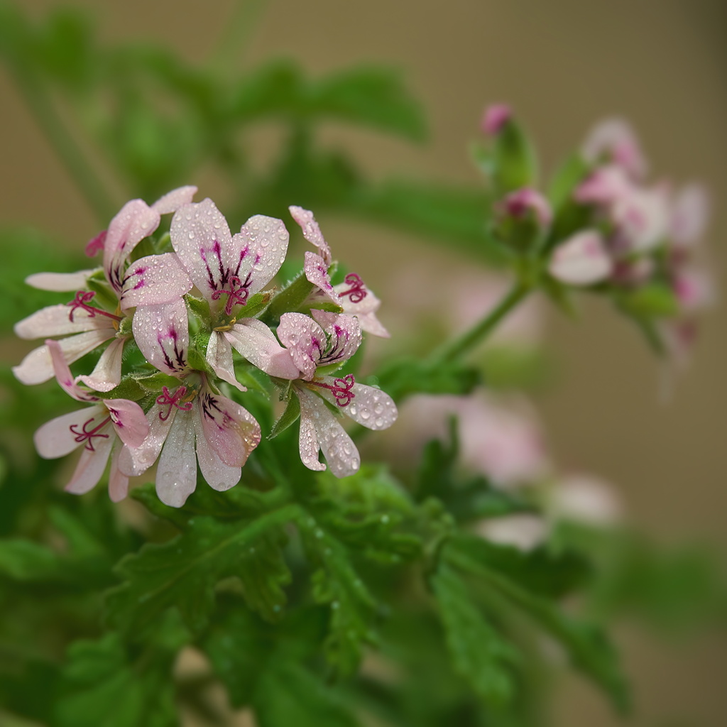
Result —
M333 285L328 273L332 263L331 248L326 242L321 228L310 209L298 206L288 208L293 219L300 225L310 244L318 248L318 252L306 252L303 270L308 282L316 286L310 300L311 307L316 302L330 301L340 305L348 316L355 316L364 331L382 338L388 338L389 332L382 326L376 316L381 301L366 286L358 273L349 273L344 282Z

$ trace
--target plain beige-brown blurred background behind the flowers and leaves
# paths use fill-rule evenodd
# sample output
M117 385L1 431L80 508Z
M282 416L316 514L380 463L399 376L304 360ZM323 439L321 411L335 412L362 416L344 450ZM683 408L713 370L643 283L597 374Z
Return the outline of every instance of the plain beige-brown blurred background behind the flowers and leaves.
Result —
M57 0L25 0L40 16ZM103 40L164 39L190 60L214 51L233 0L92 0ZM431 121L427 145L331 129L374 174L420 173L476 182L466 154L485 103L507 100L534 132L552 168L601 116L627 116L657 176L698 177L715 203L715 273L725 259L727 217L727 3L724 0L270 0L244 57L294 57L311 73L376 61L403 69ZM97 224L0 71L0 222L31 222L84 243ZM214 196L215 181L200 184ZM205 185L209 185L206 187ZM220 206L224 209L224 201ZM367 281L395 270L417 241L326 220L326 236ZM418 252L417 252L418 254ZM723 296L724 297L724 296ZM385 310L385 309L383 309ZM383 314L385 320L385 313ZM659 367L635 332L605 305L579 322L550 316L549 348L560 367L539 397L561 464L612 481L633 521L666 542L694 534L727 550L727 325L705 316L691 369L672 401L659 399ZM638 725L727 724L724 635L660 645L632 627L618 633L635 680ZM608 707L569 679L558 727L615 725ZM672 721L663 721L669 718ZM292 726L294 727L294 726Z

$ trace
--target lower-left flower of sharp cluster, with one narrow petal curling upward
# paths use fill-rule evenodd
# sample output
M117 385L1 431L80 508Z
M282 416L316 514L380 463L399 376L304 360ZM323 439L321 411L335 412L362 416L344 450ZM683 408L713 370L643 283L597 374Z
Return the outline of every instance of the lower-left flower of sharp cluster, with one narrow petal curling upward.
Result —
M36 449L41 457L56 459L84 445L76 471L65 486L66 491L75 494L83 494L96 485L111 455L108 494L113 502L118 502L129 489L129 478L119 468L121 444L140 446L144 441L149 433L144 412L134 401L101 399L85 390L78 378L73 379L59 342L48 340L46 345L59 384L77 401L93 406L63 414L41 426L33 437Z

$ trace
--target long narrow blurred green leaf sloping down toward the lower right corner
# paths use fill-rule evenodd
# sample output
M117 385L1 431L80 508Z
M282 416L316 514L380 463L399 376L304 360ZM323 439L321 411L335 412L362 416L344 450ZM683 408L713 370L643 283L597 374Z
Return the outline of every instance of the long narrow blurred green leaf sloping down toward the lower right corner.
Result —
M542 630L561 644L571 663L611 697L619 712L627 712L629 694L616 652L601 629L566 616L546 598L533 593L487 561L473 558L467 545L452 539L443 546L441 557L451 565L481 579L511 606L527 614Z

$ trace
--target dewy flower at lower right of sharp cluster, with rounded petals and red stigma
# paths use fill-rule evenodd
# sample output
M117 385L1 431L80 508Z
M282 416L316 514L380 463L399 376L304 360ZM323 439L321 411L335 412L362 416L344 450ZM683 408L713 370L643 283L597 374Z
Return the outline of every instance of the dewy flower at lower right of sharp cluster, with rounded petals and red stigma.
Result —
M292 382L292 390L300 401L300 459L309 470L325 470L318 461L323 451L331 472L346 477L358 471L361 459L358 449L326 401L358 424L374 430L390 427L397 417L395 403L383 391L356 383L353 374L333 377L319 374L341 366L361 345L361 324L353 316L311 311L313 318L302 313L284 313L278 326L278 337L291 352L300 378Z

